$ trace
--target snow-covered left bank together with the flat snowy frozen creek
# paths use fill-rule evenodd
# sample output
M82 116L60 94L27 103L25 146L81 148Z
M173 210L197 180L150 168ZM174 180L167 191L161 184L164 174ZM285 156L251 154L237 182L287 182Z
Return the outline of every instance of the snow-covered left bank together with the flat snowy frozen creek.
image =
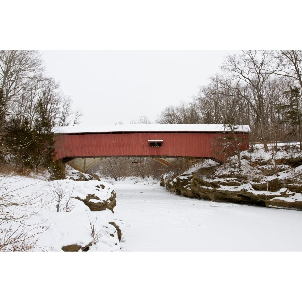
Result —
M62 246L70 244L84 247L94 241L90 223L95 223L100 233L89 251L302 251L301 211L186 198L156 182L137 178L101 182L0 180L2 200L10 192L16 202L29 201L5 212L14 217L34 212L26 220L31 233L38 233L32 238L38 240L34 251L62 251ZM85 198L93 193L102 200L112 189L117 194L114 214L110 210L91 212L75 198L70 199L66 211L70 195ZM58 212L57 194L63 191ZM122 231L120 242L109 224L112 221Z

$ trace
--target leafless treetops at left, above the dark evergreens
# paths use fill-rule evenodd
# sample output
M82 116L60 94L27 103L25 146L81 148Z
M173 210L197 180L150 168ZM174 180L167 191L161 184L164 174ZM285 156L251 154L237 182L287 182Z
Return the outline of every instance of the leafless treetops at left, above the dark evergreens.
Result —
M8 115L27 118L32 126L37 104L45 104L53 126L78 124L80 108L72 110L72 101L59 90L59 83L44 77L43 61L34 50L0 51L0 121Z

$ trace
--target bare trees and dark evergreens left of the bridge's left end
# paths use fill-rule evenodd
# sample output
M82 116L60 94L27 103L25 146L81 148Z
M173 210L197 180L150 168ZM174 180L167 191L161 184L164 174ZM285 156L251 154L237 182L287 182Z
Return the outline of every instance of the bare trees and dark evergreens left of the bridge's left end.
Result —
M54 161L53 126L79 123L80 108L46 76L34 50L0 51L0 163L14 169L48 168L54 178L63 168ZM57 175L56 175L57 174Z

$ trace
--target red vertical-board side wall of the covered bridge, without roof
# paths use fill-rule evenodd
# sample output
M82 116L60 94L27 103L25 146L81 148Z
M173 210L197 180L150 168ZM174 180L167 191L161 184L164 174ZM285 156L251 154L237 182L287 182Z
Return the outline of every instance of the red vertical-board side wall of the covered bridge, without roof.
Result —
M56 159L64 157L160 156L212 157L219 155L221 133L102 133L55 134ZM248 134L236 134L243 141L242 150L249 147ZM150 147L148 140L163 140L161 147ZM233 154L229 148L227 156Z

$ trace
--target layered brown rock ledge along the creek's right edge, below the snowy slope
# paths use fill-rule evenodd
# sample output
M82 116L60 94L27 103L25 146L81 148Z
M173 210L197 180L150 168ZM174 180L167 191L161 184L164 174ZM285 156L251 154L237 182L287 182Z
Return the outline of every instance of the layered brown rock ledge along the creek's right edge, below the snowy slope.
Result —
M278 172L290 171L291 166L284 165L285 162L277 166ZM246 170L233 169L233 172L222 173L221 167L202 167L177 177L163 175L161 185L187 197L302 210L302 182L274 176L276 167L267 162L262 164L257 165L255 169L258 169L258 173L253 176L246 174ZM261 171L265 171L265 174L261 174Z

